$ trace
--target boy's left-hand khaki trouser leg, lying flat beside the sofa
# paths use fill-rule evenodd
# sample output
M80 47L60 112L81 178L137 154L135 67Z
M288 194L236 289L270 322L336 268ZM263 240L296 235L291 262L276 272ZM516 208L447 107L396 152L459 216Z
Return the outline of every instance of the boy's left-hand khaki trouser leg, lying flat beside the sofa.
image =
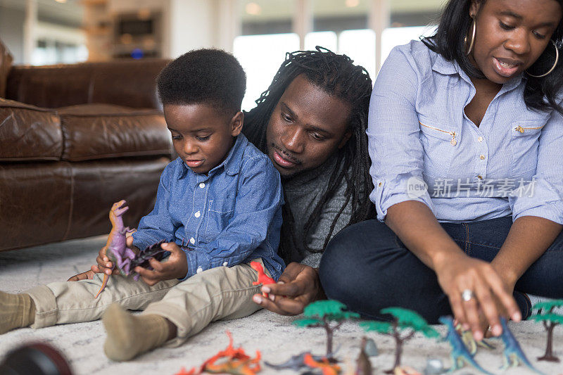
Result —
M94 298L102 281L103 274L95 274L91 280L56 282L23 292L31 296L35 305L32 328L100 319L106 307L114 302L129 310L143 310L178 283L168 280L148 286L141 279L134 281L112 275L99 297Z

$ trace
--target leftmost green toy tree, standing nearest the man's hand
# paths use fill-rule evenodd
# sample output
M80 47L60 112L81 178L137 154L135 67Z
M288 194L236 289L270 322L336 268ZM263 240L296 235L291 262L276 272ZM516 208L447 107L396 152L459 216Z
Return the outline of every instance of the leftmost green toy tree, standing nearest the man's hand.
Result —
M305 319L293 322L296 326L301 327L322 327L327 332L327 358L332 356L332 336L334 331L347 319L358 319L359 314L346 311L346 305L337 300L319 300L310 303L303 311ZM336 322L336 324L331 324Z

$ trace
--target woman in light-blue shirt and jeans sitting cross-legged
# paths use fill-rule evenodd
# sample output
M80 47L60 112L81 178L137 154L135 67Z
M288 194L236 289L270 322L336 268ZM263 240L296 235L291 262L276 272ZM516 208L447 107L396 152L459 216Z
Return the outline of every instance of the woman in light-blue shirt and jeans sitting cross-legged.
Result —
M329 298L453 312L480 340L529 315L526 293L563 297L562 6L450 0L434 37L392 51L367 130L379 221L329 243Z

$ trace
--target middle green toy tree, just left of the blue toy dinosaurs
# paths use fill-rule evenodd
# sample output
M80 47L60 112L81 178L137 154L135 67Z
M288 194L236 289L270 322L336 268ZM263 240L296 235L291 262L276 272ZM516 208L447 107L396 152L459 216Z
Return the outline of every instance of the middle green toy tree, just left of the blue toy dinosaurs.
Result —
M429 326L429 324L419 314L412 310L403 309L402 307L388 307L381 310L381 314L391 314L393 322L362 322L360 326L365 331L376 331L384 335L393 336L395 338L395 364L393 369L400 366L400 357L403 354L403 344L415 336L415 333L421 332L424 336L429 338L440 337L438 331ZM404 336L400 333L407 330ZM393 369L386 371L387 374L392 374Z

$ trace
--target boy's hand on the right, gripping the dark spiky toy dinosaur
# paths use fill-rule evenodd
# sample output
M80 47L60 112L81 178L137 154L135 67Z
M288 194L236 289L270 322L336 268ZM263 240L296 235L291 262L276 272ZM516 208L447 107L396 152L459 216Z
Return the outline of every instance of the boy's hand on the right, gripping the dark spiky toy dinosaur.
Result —
M148 262L153 267L152 271L143 267L134 269L148 286L153 286L158 281L183 279L188 273L188 260L184 251L174 242L163 243L161 246L164 250L170 251L170 257L166 262L158 262L151 258Z

